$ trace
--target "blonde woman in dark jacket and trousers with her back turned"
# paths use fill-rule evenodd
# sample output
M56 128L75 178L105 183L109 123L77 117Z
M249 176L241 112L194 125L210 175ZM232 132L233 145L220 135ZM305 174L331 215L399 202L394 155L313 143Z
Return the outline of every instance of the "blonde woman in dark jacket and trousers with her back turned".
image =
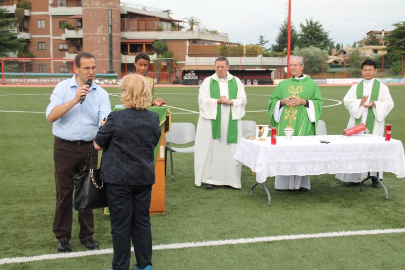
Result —
M134 269L152 269L149 207L159 119L156 112L147 110L152 94L141 75L124 76L121 102L126 109L111 112L94 138L94 147L104 150L101 179L106 183L110 211L112 268L129 269L132 240Z

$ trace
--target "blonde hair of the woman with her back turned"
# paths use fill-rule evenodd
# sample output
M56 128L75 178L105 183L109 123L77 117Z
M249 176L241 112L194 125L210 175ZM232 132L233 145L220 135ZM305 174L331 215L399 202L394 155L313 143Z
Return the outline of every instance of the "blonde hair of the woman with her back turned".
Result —
M127 74L121 81L121 89L123 90L121 103L123 103L124 107L147 109L152 106L152 91L144 76Z

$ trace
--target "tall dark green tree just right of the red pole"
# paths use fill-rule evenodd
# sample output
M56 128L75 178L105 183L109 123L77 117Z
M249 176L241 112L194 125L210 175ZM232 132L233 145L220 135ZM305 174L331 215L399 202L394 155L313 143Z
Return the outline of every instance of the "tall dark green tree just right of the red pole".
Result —
M312 18L305 19L305 24L300 23L301 31L298 34L296 45L300 48L309 46L317 47L321 50L328 50L332 39L329 38L329 32L323 30L322 24Z

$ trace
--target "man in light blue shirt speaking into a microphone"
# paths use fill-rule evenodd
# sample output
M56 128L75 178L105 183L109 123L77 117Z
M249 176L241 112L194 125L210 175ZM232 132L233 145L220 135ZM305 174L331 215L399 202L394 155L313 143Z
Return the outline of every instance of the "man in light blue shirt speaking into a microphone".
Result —
M73 70L75 74L71 79L55 87L46 111L55 135L56 209L53 232L58 239L59 252L71 251L73 176L85 168L100 122L111 111L108 93L93 82L97 70L95 57L90 53L77 54ZM86 85L88 80L92 82L90 87ZM82 96L85 99L80 102ZM97 169L97 158L98 151L93 151L93 169ZM88 249L99 249L93 239L93 210L79 211L77 219L80 243Z

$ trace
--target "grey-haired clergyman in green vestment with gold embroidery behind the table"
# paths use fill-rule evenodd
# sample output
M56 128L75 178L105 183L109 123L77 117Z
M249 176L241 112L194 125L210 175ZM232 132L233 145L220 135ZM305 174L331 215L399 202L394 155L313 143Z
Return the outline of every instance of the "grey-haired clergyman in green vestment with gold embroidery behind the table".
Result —
M268 114L277 136L284 136L285 128L293 128L293 136L315 135L322 111L323 99L318 85L303 74L303 58L290 59L291 78L281 81L270 96ZM310 189L308 176L275 177L276 189Z

